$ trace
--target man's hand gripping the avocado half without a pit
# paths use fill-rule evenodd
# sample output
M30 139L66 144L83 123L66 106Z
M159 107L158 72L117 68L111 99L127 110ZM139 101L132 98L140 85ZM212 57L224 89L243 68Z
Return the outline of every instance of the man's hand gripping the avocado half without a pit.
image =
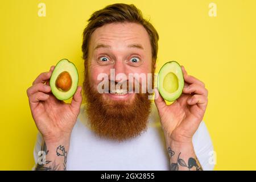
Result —
M183 93L176 101L166 105L158 90L155 90L158 96L155 104L167 142L192 142L193 134L204 117L208 103L208 90L205 89L204 83L189 76L184 67L181 69L185 84Z

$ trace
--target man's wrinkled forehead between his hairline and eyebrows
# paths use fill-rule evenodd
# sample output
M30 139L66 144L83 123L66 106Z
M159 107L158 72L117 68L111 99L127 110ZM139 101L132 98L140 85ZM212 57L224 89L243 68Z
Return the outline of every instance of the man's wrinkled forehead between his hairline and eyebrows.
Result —
M89 43L89 53L99 48L124 51L127 48L141 49L151 53L150 36L138 23L110 23L97 28Z

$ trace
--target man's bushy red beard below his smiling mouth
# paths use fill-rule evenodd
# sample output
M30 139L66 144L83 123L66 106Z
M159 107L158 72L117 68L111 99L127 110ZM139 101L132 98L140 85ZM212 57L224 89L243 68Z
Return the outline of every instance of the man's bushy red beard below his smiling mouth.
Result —
M146 131L151 110L149 93L136 93L133 101L129 102L106 100L88 83L89 79L85 76L85 110L94 133L103 138L123 141Z

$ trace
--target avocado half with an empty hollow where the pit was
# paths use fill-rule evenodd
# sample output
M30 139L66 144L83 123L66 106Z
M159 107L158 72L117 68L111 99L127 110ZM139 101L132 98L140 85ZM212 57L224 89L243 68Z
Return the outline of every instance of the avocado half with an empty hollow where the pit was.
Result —
M176 61L163 65L158 73L158 90L166 101L175 101L180 97L184 87L182 69Z

